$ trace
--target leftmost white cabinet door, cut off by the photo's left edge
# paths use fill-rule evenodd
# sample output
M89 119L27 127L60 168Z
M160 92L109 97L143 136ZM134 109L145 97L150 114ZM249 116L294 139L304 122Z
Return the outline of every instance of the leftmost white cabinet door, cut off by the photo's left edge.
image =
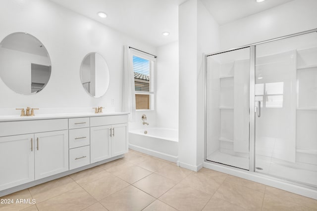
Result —
M33 141L33 134L0 137L0 190L34 180Z

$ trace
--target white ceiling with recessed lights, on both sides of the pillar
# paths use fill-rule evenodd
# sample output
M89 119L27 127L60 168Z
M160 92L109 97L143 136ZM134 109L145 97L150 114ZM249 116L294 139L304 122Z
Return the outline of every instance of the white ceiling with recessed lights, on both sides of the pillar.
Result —
M51 0L153 46L178 40L178 5L186 0ZM201 0L219 25L291 0ZM97 12L104 11L105 19ZM169 32L163 36L162 32Z

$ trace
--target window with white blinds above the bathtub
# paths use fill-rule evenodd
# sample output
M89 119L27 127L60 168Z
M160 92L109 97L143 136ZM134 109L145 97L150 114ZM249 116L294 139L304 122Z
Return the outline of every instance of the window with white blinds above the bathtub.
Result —
M133 52L136 109L154 109L154 58Z

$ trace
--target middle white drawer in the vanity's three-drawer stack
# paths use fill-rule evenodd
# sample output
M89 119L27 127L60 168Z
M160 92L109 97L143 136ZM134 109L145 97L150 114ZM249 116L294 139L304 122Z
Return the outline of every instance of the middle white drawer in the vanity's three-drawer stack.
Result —
M89 127L69 130L69 149L82 147L90 144Z

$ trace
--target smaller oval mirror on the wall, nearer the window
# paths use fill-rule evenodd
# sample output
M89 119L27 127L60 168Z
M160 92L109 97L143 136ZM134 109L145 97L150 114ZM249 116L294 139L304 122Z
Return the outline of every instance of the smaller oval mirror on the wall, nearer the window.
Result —
M88 53L81 63L80 78L91 96L103 96L109 86L109 68L104 57L96 52Z

